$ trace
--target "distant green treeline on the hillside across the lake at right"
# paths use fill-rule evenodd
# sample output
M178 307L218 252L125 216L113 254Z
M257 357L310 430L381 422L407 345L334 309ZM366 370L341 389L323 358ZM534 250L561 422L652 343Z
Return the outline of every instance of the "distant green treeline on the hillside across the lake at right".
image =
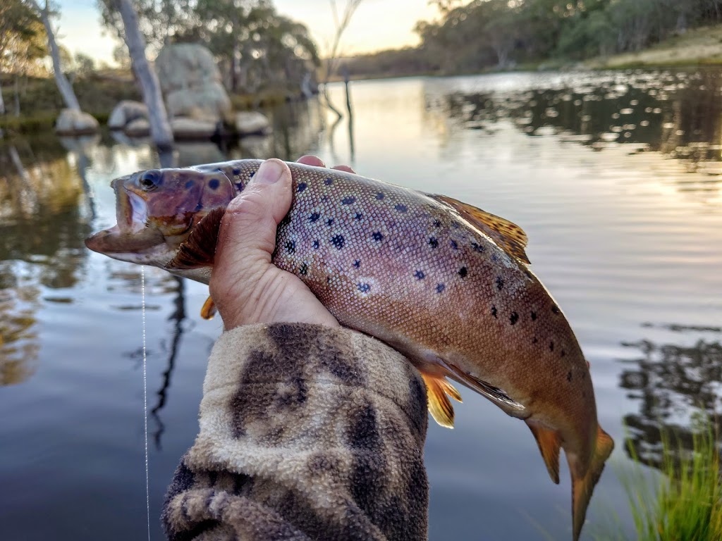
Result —
M469 73L638 51L722 21L722 0L435 0L417 48L349 59L351 76Z

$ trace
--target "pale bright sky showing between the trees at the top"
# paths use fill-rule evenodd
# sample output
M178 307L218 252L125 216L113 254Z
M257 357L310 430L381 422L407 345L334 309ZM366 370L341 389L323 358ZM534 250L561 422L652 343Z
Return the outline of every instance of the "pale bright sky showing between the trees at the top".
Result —
M274 0L277 12L303 22L319 49L328 50L334 35L329 0ZM336 0L339 9L345 0ZM113 63L116 41L100 25L96 0L59 0L61 17L58 41L72 55L82 52L97 61ZM342 41L342 55L368 53L404 45L416 45L413 28L420 19L433 19L435 7L427 0L364 0L352 18Z

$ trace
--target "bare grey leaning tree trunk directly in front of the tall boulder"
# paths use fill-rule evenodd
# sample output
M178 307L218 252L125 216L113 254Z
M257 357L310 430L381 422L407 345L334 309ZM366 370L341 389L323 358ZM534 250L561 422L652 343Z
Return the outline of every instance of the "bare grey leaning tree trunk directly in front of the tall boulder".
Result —
M133 71L140 83L143 101L148 107L150 136L159 149L169 149L173 146L173 132L170 130L158 76L145 57L145 39L138 27L138 15L131 0L116 0L116 5L123 18L126 45L131 55Z

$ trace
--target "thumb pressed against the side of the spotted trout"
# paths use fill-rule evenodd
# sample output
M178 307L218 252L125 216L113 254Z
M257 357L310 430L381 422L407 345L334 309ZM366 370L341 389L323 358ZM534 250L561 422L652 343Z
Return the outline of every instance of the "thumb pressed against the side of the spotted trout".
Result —
M211 296L218 301L229 294L253 291L271 265L276 229L292 202L291 172L279 159L261 164L253 181L226 209L218 234L211 278ZM230 291L232 290L232 291ZM248 294L248 293L246 293Z

